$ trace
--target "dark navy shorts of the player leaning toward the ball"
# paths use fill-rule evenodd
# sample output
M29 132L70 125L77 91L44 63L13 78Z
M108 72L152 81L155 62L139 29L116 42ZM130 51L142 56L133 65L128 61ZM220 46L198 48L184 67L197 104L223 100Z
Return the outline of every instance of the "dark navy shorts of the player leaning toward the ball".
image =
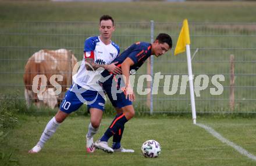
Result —
M109 76L110 73L107 70L105 70L101 73L101 75L105 78L106 76ZM102 83L102 87L106 94L108 94L108 98L111 101L111 104L117 108L132 105L133 103L129 99L125 98L125 93L123 91L122 93L116 92L116 90L120 91L120 88L124 86L122 86L121 84L122 80L116 79L115 77L115 75L112 75L108 80Z

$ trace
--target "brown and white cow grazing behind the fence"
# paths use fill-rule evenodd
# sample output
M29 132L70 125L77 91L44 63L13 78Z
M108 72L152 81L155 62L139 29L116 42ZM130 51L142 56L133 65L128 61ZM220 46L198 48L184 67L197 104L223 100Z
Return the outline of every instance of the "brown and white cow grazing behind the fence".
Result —
M71 51L40 50L27 61L23 75L27 105L55 108L72 84L72 70L77 63ZM61 86L61 87L60 87Z

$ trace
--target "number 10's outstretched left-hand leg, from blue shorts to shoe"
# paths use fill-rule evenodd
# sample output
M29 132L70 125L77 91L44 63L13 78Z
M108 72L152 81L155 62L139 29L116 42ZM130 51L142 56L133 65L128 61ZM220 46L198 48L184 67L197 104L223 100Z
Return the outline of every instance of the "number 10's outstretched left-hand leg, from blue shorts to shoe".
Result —
M76 95L72 91L67 91L65 98L62 101L62 104L54 117L48 121L47 126L45 127L40 140L37 145L29 151L29 153L38 153L44 146L45 142L48 141L54 135L59 125L66 119L69 114L77 110L83 103L81 103Z

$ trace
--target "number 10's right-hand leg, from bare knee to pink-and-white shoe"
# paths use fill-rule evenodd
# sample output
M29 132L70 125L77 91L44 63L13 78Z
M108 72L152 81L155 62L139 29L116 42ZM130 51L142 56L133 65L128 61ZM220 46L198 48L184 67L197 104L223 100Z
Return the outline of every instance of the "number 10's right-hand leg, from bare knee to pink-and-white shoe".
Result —
M89 111L91 115L91 121L88 126L88 132L86 134L86 150L88 153L92 153L95 150L93 136L98 132L99 126L101 124L103 111L98 108L90 108Z

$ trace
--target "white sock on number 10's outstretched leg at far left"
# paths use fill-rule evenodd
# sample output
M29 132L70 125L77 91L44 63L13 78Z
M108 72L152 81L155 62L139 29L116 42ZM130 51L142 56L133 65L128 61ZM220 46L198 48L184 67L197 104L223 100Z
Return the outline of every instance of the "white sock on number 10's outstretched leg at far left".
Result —
M47 126L45 127L44 132L42 132L41 138L37 145L43 147L44 143L47 142L48 139L52 137L52 135L55 133L60 124L61 123L58 123L56 121L55 117L52 117L52 119L48 122Z

